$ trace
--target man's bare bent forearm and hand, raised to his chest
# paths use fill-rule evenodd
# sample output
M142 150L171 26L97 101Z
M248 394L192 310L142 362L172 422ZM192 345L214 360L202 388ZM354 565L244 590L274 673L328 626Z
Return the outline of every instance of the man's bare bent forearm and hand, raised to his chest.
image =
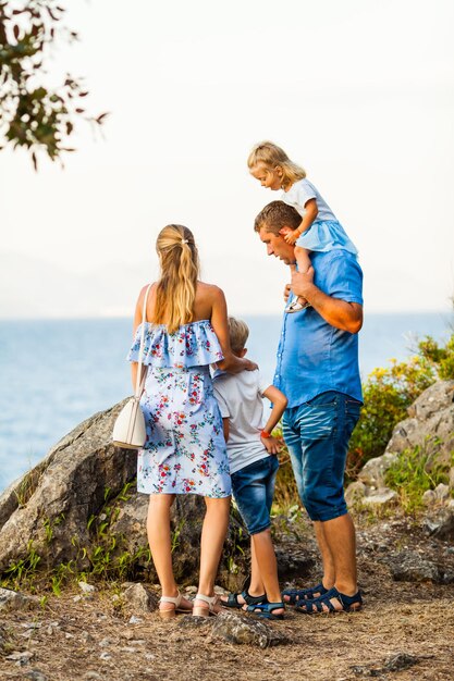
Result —
M363 306L358 302L346 302L339 298L327 296L314 284L314 268L307 272L297 272L292 269L292 290L295 296L306 298L326 322L349 333L358 333L363 326Z

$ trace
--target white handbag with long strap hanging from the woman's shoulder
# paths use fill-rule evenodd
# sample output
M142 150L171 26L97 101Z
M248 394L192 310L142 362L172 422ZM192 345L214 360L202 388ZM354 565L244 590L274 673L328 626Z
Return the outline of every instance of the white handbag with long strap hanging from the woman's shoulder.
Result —
M147 299L151 288L151 284L147 288L147 293L144 298L144 310L142 314L142 334L140 334L140 349L138 354L137 376L136 376L136 389L134 397L127 400L123 409L116 417L116 421L113 425L112 439L116 447L123 449L142 449L145 445L147 437L145 429L144 413L140 409L140 396L144 392L146 371L143 371L143 355L144 355L144 342L145 342L145 319L147 314Z

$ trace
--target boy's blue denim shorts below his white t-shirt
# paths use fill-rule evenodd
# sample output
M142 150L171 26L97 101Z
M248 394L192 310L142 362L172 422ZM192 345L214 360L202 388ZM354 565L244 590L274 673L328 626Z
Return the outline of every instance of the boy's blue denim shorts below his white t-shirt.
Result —
M232 492L249 534L258 534L270 524L274 495L277 456L267 456L232 473Z

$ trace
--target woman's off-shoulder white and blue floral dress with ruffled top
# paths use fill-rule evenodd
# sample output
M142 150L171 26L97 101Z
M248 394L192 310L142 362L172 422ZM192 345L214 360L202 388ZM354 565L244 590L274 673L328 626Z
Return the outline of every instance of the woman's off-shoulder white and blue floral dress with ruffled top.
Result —
M145 494L231 494L222 418L209 364L223 359L209 320L169 333L145 322L148 367L140 407L147 439L138 453L137 491ZM127 355L138 361L142 324Z

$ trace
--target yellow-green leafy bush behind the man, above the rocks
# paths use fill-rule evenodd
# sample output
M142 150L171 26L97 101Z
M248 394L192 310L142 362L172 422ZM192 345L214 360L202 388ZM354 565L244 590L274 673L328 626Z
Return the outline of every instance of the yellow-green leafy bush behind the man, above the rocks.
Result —
M429 385L453 377L454 335L445 346L428 336L409 360L392 360L389 368L372 371L363 386L364 407L349 444L348 479L383 454L394 426L407 418L408 407Z

